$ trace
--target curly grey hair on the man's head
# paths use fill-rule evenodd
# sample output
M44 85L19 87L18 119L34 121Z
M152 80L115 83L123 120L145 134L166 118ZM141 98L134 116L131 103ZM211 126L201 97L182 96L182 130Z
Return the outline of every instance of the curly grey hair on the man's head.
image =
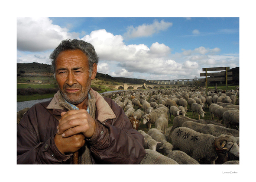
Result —
M58 57L59 53L65 50L81 50L88 58L89 63L89 73L91 77L91 73L93 70L93 64L98 64L99 57L97 56L97 53L94 49L94 46L88 42L77 40L77 39L69 39L62 41L58 47L53 50L53 52L50 54L49 58L52 60L52 72L55 76L55 60Z

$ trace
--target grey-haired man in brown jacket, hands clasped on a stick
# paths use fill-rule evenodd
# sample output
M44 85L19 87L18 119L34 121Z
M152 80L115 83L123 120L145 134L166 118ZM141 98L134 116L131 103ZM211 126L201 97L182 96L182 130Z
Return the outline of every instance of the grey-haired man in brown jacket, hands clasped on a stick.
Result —
M123 109L92 90L98 57L80 40L62 41L50 55L59 91L35 104L17 126L18 164L138 164L144 137Z

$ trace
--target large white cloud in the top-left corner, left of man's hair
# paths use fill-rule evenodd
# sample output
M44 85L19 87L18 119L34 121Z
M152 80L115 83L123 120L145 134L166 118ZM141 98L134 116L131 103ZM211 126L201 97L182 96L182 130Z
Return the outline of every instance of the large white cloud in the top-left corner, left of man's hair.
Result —
M49 18L17 18L17 49L22 51L45 51L54 49L60 41L75 38L67 28L53 25Z

